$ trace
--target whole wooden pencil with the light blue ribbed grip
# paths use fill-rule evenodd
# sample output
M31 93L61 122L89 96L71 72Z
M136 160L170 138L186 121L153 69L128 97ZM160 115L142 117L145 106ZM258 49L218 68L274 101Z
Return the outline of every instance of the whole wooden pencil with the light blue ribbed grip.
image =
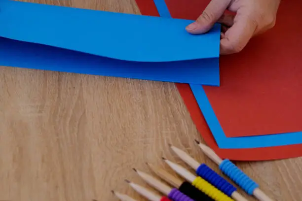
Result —
M222 160L210 147L195 140L200 149L212 161L214 161L219 168L238 186L240 186L249 195L254 195L260 201L273 201L261 189L257 183L249 178L241 169L236 167L228 159Z

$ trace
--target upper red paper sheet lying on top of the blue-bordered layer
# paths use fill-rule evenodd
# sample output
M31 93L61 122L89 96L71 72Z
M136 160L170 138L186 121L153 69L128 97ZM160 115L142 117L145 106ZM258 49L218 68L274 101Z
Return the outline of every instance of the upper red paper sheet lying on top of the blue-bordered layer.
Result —
M173 18L190 19L209 2L165 1ZM221 87L204 90L227 137L302 131L301 8L302 0L281 1L273 29L221 56Z

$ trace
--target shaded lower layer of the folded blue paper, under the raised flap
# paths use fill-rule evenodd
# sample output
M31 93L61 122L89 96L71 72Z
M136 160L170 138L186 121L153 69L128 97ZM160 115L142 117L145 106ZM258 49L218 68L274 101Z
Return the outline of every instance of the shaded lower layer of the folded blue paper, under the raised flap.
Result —
M201 63L209 68L217 64L216 60L206 59L187 62L165 62L160 63L160 65L159 63L148 62L142 66L140 62L115 60L46 45L24 43L0 37L0 64L10 67L26 67L105 76L144 77L144 79L149 80L156 80L155 78L159 80L173 80L175 74L171 73L171 71L178 69L178 73L183 76L183 81L189 81L191 78L194 78L195 75L190 74L190 72L196 71L198 73ZM183 68L182 66L184 65L188 65L188 67ZM210 83L211 78L216 77L215 72L210 74L212 72L212 70L209 70L207 75L199 73L198 76Z

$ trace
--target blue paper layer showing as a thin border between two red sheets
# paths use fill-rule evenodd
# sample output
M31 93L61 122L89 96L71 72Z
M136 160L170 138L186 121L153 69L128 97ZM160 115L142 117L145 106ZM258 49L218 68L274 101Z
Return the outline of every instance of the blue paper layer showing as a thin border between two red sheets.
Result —
M161 17L171 17L170 12L164 0L154 0L156 8ZM214 138L222 149L244 149L244 148L262 148L272 146L284 146L302 143L302 132L268 134L246 137L227 137L224 133L219 120L212 108L212 105L202 87L202 85L189 84L203 113L207 124L214 135Z

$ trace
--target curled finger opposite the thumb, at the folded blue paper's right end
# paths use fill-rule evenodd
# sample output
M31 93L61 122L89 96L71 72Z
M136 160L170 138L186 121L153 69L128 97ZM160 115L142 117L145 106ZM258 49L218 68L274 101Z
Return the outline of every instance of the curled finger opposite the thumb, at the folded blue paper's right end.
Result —
M234 24L224 33L220 40L220 54L240 52L257 29L257 22L247 15L237 13Z

